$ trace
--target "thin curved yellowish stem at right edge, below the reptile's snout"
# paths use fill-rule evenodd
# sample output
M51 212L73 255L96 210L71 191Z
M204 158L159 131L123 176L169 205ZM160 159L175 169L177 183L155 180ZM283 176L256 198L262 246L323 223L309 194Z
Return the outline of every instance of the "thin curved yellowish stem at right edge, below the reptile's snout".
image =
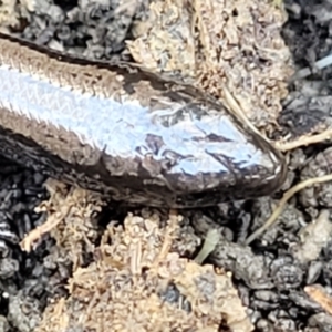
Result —
M294 194L297 194L298 191L300 191L309 186L312 186L315 184L322 184L322 183L326 183L326 181L331 181L331 180L332 180L332 174L320 176L320 177L313 177L313 178L307 179L307 180L293 186L288 191L286 191L283 194L282 198L280 199L278 206L273 210L272 215L270 216L270 218L264 222L263 226L258 228L256 231L253 231L253 234L251 234L251 236L248 237L248 239L246 240L246 245L250 245L255 239L257 239L261 234L263 234L269 227L271 227L276 222L276 220L282 212L286 203Z

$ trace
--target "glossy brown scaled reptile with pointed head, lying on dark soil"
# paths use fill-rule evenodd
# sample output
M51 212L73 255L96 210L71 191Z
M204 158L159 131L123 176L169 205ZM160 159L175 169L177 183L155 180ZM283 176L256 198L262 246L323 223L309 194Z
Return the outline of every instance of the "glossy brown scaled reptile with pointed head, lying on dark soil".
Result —
M191 86L3 34L0 153L115 200L162 207L269 195L286 174L269 143Z

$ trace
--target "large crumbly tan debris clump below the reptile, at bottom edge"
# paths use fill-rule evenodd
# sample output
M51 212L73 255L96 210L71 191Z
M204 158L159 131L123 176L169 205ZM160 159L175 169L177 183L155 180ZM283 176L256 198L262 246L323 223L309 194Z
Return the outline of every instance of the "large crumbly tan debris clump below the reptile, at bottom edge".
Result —
M177 217L166 226L156 215L116 224L107 226L94 261L70 278L70 297L46 308L37 332L110 324L123 332L253 330L228 273L168 251Z

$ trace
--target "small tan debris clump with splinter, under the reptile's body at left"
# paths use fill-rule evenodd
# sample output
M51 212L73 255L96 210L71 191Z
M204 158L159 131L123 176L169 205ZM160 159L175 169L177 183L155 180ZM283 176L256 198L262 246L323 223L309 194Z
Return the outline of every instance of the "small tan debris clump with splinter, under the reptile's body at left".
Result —
M50 232L56 246L73 262L73 270L81 267L84 256L94 251L100 236L97 215L105 205L98 194L74 188L49 179L45 184L50 200L43 201L35 212L48 212L44 224L31 230L21 241L24 251L31 251L42 235Z

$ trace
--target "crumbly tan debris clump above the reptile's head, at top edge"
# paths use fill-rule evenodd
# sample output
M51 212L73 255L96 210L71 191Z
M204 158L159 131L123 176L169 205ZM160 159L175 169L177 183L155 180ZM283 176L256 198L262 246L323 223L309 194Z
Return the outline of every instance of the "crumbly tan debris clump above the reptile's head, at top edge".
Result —
M282 8L269 0L160 0L149 12L127 42L135 61L220 100L226 86L257 127L276 129L293 73Z

